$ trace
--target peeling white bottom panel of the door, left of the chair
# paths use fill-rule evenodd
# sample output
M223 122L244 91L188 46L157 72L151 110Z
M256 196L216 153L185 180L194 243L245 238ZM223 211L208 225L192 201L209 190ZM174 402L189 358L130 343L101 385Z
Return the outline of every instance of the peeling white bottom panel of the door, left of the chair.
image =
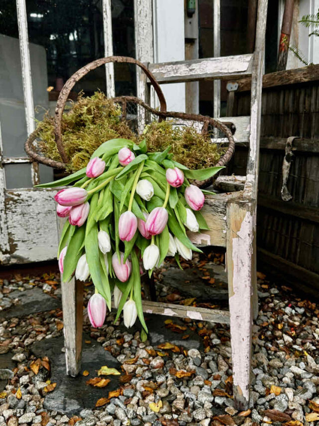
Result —
M3 263L56 258L55 192L56 189L31 188L4 191L9 250L5 252Z

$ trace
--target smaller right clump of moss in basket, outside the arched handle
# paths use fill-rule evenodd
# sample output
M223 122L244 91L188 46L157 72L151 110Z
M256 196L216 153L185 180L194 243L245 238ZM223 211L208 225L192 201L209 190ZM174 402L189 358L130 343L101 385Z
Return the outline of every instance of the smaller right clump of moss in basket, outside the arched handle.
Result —
M173 125L172 120L152 122L143 136L150 152L163 151L171 145L173 159L190 169L213 166L222 155L208 134L198 133L194 127Z

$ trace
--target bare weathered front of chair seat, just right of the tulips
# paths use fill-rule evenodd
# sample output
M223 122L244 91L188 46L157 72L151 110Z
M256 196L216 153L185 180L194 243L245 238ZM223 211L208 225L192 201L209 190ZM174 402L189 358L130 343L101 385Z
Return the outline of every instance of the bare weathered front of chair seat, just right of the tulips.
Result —
M242 191L229 194L206 195L205 204L201 210L209 230L198 234L188 232L187 235L194 244L207 246L226 246L226 205L231 199L242 197Z

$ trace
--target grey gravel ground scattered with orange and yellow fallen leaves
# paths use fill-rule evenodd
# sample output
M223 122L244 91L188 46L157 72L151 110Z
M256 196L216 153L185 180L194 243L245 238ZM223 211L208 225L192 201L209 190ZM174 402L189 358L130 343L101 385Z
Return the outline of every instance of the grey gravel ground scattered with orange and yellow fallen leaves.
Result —
M184 267L197 270L203 286L224 289L212 272L213 263L222 261L222 254L194 256ZM188 298L185 289L172 288L167 273L173 268L165 264L157 273L159 299L207 306L191 298L191 272L185 281ZM96 371L83 371L92 383L84 384L83 394L92 396L98 388L103 396L95 407L79 408L76 415L45 408L46 399L54 395L57 407L62 407L63 388L50 381L54 377L50 358L44 353L36 356L32 349L41 348L41 342L54 347L61 340L58 274L0 279L0 426L319 426L319 309L292 289L268 282L262 273L258 276L260 312L253 330L251 409L240 413L233 408L228 326L158 317L150 320L149 341L142 343L138 326L126 330L120 321L114 325L112 312L98 330L85 316L84 332L114 357L121 376L98 377ZM37 295L40 306L51 301L54 309L39 313L36 303L21 304L22 294ZM86 302L91 294L88 283ZM210 304L223 307L225 301ZM164 330L161 340L157 324Z

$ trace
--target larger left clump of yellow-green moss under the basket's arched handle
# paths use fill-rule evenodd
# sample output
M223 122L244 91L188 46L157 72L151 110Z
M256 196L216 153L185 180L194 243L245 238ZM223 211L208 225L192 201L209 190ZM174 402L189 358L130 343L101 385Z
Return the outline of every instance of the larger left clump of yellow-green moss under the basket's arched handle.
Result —
M78 100L63 113L62 142L70 159L67 171L76 171L85 167L95 149L101 143L123 137L135 140L125 121L121 121L121 108L104 93L95 92L93 96L84 97L80 93ZM45 114L38 124L39 146L43 154L56 161L61 161L54 139L54 119Z

